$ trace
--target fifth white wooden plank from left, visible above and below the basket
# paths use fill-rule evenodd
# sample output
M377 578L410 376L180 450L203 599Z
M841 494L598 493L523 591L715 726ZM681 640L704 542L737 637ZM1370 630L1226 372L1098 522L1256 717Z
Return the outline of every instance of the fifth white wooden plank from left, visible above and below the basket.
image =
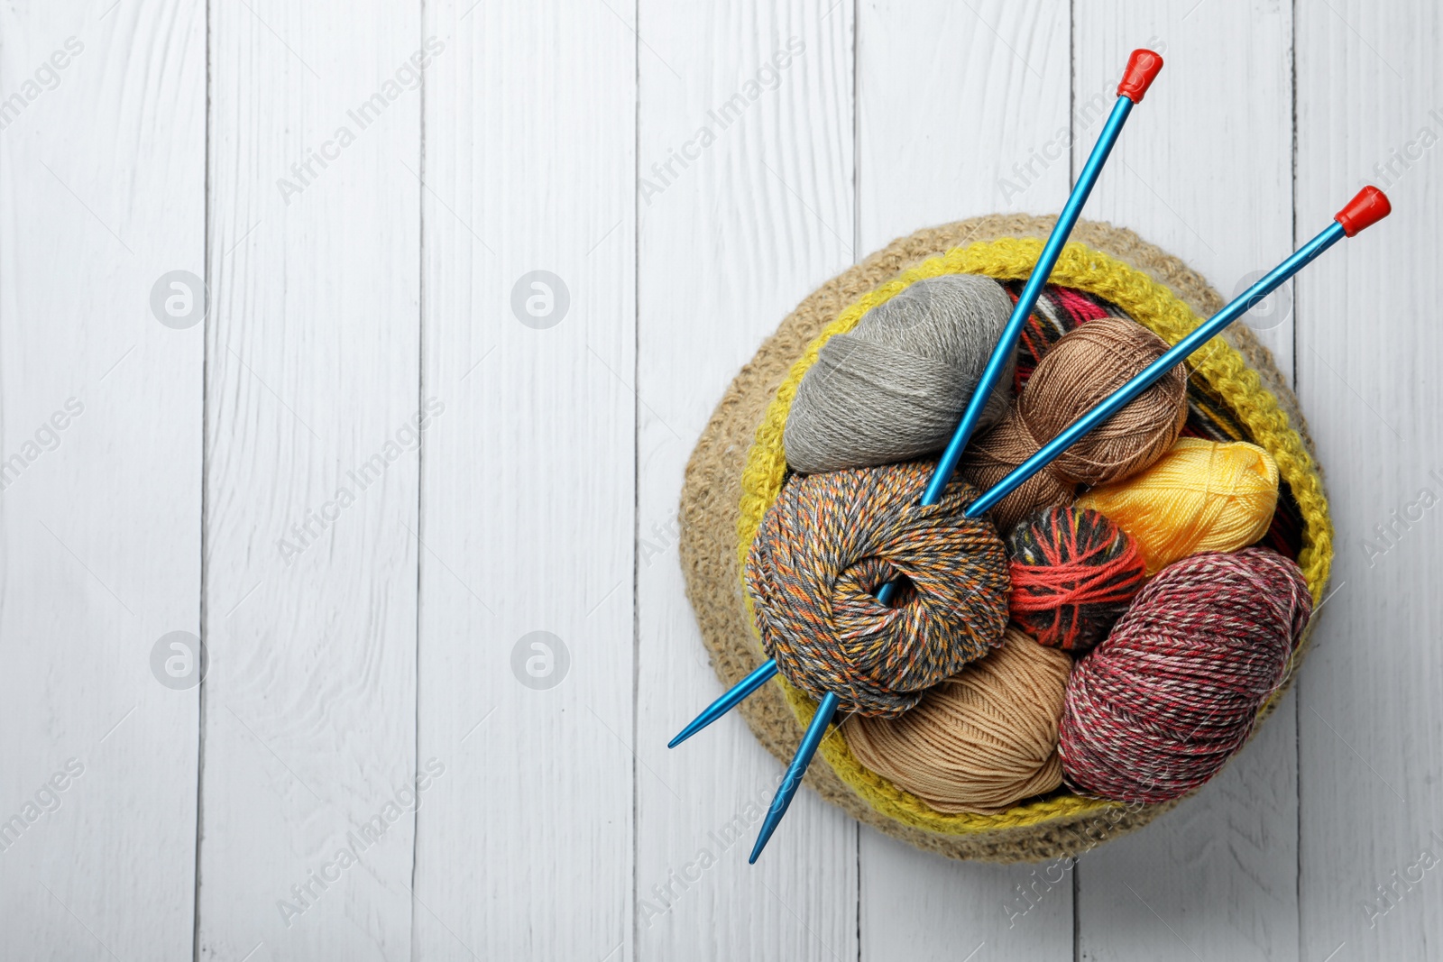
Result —
M1055 212L1068 193L1065 4L869 3L859 13L861 251L965 216ZM1056 160L1013 169L1052 143ZM949 862L860 837L864 959L1059 958L1071 880L1053 867ZM1036 873L1036 874L1035 874ZM1042 878L1042 881L1038 881ZM1017 887L1030 890L1036 907ZM975 952L974 956L968 953Z

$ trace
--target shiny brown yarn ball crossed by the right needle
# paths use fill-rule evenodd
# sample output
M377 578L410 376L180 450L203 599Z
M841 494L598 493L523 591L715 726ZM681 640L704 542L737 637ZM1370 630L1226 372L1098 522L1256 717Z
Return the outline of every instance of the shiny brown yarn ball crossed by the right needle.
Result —
M991 487L1166 350L1162 337L1127 317L1100 317L1068 332L1001 423L967 449L962 473L983 490ZM1038 508L1069 503L1078 485L1121 480L1156 462L1182 431L1186 389L1179 365L1003 498L991 512L997 528L1009 531Z

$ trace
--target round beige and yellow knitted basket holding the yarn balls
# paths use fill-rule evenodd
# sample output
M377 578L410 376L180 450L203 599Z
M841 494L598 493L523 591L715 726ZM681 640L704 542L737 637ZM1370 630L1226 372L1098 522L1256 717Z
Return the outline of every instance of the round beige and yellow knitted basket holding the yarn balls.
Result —
M687 464L681 493L681 562L713 666L730 687L763 659L755 619L742 590L742 561L786 473L782 433L802 375L828 337L850 330L869 309L925 277L1027 275L1055 218L990 215L928 228L893 241L827 281L781 325L732 382ZM1094 294L1176 343L1224 300L1177 258L1127 229L1082 221L1051 283ZM1193 379L1266 447L1303 516L1299 565L1315 606L1323 599L1333 558L1332 522L1306 423L1271 355L1234 325L1189 361ZM1307 652L1299 643L1287 678ZM1260 710L1267 717L1286 694ZM763 685L742 704L759 741L788 762L815 712L815 702L785 681ZM951 858L1014 862L1078 855L1137 829L1176 805L1121 805L1058 792L996 815L945 813L864 769L840 731L823 740L807 783L861 822L918 848Z

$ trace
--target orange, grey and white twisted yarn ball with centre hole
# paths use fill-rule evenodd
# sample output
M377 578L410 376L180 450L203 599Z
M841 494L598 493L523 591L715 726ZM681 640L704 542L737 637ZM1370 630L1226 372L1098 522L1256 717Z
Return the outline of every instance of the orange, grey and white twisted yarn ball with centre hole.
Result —
M747 552L745 581L766 653L843 711L899 715L1001 639L1007 554L977 498L954 480L918 500L934 464L794 475ZM876 591L906 575L892 606Z

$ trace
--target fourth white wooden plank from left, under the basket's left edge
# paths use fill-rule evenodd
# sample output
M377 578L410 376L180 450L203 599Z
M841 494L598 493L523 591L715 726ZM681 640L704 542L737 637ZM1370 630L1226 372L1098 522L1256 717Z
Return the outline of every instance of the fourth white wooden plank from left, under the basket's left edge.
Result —
M683 467L762 339L853 261L851 7L641 4L636 930L645 959L857 953L856 824L804 789L747 865L781 763L734 714L665 749L719 694L677 560ZM701 130L714 141L697 149ZM694 157L668 172L672 151ZM703 851L714 865L703 867Z

